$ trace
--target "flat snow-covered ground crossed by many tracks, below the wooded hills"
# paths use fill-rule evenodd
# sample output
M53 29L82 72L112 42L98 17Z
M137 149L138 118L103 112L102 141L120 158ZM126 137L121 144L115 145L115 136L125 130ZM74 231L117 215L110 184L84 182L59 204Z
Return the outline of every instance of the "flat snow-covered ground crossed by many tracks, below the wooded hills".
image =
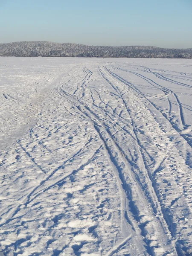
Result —
M0 89L1 254L192 255L192 60L1 57Z

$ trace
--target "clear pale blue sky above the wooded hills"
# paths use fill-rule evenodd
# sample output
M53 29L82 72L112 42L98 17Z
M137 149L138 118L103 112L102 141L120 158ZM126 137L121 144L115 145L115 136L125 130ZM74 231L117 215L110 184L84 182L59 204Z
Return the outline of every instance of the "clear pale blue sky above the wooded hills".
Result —
M0 0L0 43L192 48L192 0Z

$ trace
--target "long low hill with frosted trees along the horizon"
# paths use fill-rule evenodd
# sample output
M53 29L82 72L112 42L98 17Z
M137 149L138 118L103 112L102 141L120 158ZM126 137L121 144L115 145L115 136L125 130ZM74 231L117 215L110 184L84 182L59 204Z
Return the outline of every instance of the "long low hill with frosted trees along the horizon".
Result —
M192 49L166 49L151 46L87 46L29 41L0 44L0 56L192 58Z

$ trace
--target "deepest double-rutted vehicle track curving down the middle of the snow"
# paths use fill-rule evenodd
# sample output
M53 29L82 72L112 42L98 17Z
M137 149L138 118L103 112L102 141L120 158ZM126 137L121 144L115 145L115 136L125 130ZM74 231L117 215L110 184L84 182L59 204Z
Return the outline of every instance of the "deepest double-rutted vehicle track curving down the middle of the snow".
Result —
M139 221L139 219L140 219L140 221L141 221L141 217L139 217L139 213L137 212L137 211L140 211L139 209L138 209L138 206L140 205L142 205L142 204L144 204L144 202L145 202L145 199L143 198L143 193L141 193L141 192L139 192L140 191L140 185L138 184L137 186L134 186L135 184L137 184L138 183L138 181L137 181L137 178L136 177L134 177L134 175L136 175L134 172L131 174L130 173L130 176L129 176L129 179L131 179L129 182L128 181L126 181L125 182L125 177L124 177L124 175L125 175L125 172L124 172L124 174L122 173L122 171L121 171L121 169L122 169L122 164L124 165L124 166L126 166L125 167L125 169L126 170L128 170L128 169L131 169L129 166L127 166L127 159L126 159L126 157L124 157L124 156L122 156L122 154L121 154L121 151L120 151L120 149L119 149L119 147L116 145L116 142L115 141L113 141L113 139L112 139L112 137L111 137L111 135L108 133L108 131L105 129L105 125L103 125L102 123L101 123L101 121L95 116L95 114L90 110L90 108L88 108L88 106L84 106L83 105L83 103L82 102L80 102L80 101L78 101L78 102L76 102L76 100L77 99L75 99L75 98L73 98L73 96L71 96L71 95L69 95L68 93L66 93L66 92L64 92L64 90L62 89L62 92L65 94L65 98L66 99L69 99L70 98L70 102L71 103L73 103L75 106L76 106L76 108L78 108L78 110L80 110L82 113L84 113L90 120L91 120L91 122L93 122L93 126L94 126L94 128L97 130L97 132L99 133L99 137L102 139L102 141L103 141L103 143L106 143L105 144L105 147L106 147L106 149L108 150L108 154L111 156L111 160L113 160L113 161L115 161L115 162L113 162L113 164L116 166L116 169L117 169L117 173L118 173L118 175L119 176L117 176L117 179L119 179L119 177L120 177L120 180L121 180L121 182L122 182L122 184L124 184L123 185L123 190L125 191L125 194L127 195L127 198L128 198L128 200L129 200L129 211L131 210L134 210L133 212L130 212L130 213L128 213L128 214L126 214L126 216L129 216L129 218L130 218L130 216L131 215L133 215L134 216L134 218L136 218L135 220L134 219L132 219L132 222L134 222L135 224L134 224L134 229L135 230L138 230L138 228L139 228L139 230L141 229L141 233L142 233L142 235L143 236L145 236L145 233L148 233L148 232L151 232L151 231L149 231L148 230L148 221L146 221L146 222L144 222L143 223L143 225L141 224L139 227L138 227L138 221ZM84 110L83 109L81 109L81 108L84 108ZM87 112L88 111L88 112ZM93 117L92 117L93 116ZM98 123L99 122L99 123ZM97 124L98 123L98 124ZM102 130L100 130L100 129L102 129ZM105 135L105 137L104 137L104 133L106 134ZM109 136L109 137L108 137ZM108 139L110 139L110 141L111 141L111 145L108 145ZM119 156L119 158L121 159L120 160L120 162L121 163L118 163L118 162L116 162L117 160L116 160L116 157L114 157L114 155L113 155L113 151L111 151L111 147L113 148L114 147L114 149L113 149L113 151L115 152L116 151L116 154ZM120 172L120 173L119 173ZM127 173L128 174L128 173ZM128 178L128 177L127 177ZM133 186L133 187L132 187ZM137 189L136 189L137 188ZM121 188L119 188L119 189L121 189ZM141 199L141 198L142 199ZM136 199L137 198L137 199ZM139 199L140 198L140 199ZM125 200L125 198L124 198L124 200ZM135 205L135 201L140 201L140 203L138 203L138 204L136 204ZM126 205L126 202L124 202L124 205ZM123 207L123 208L125 208L125 207ZM140 208L140 207L139 207ZM143 209L145 209L145 207L143 206ZM128 211L127 211L128 212ZM126 212L125 212L126 213ZM145 213L146 214L146 213ZM140 215L142 215L141 213L140 213ZM136 217L137 216L137 217ZM150 223L151 223L151 225L153 226L153 222L152 221L149 221ZM157 221L158 222L158 221ZM161 221L160 221L161 222ZM165 224L164 224L165 225ZM136 228L137 227L137 228ZM148 231L146 231L146 230L148 230ZM151 229L151 226L150 226L150 229ZM155 230L155 227L153 227L153 231L152 232L154 232L154 230ZM163 232L169 232L168 231L168 229L166 230L166 228L164 228L164 231ZM137 236L138 236L138 234L137 234ZM150 240L148 240L148 239L146 239L145 238L145 242L148 244L148 250L150 251L150 253L152 253L153 255L156 255L156 253L155 253L155 250L156 250L156 248L157 248L157 250L158 250L158 248L159 247L161 247L160 246L160 244L157 246L157 247L150 247L150 245L149 245L149 243L150 243Z

